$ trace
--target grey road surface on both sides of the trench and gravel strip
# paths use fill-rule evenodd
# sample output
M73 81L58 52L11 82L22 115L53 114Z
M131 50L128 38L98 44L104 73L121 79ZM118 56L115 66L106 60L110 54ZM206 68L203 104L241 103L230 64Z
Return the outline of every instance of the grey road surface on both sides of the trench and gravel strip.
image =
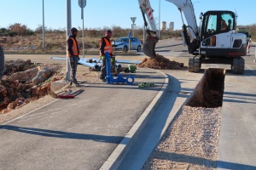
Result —
M163 43L163 42L162 42ZM187 64L189 55L183 52L182 45L161 44L156 52L169 59ZM218 169L256 169L256 59L253 44L251 54L245 56L245 72L234 75L230 65L202 65L199 73L188 71L164 71L170 79L169 92L143 128L130 152L120 163L120 170L141 169L151 151L165 132L183 102L189 98L196 83L207 68L225 68L224 105L218 148Z

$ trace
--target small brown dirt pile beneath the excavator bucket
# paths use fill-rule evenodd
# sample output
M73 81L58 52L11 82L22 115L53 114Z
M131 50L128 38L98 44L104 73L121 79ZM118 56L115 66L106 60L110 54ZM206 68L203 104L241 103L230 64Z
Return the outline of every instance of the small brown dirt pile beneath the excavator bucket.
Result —
M185 69L183 63L178 63L176 61L171 61L170 59L166 59L164 56L160 54L156 54L155 58L145 58L143 62L141 62L138 67L148 67L151 69L158 70L180 70Z

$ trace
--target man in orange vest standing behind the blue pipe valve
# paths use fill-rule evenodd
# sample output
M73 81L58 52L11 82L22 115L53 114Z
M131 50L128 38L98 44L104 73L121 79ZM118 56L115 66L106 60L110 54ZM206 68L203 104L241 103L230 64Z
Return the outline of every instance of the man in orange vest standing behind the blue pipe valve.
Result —
M111 65L112 65L111 67L112 69L115 68L115 58L113 57L113 48L110 41L111 37L112 37L112 31L108 30L106 31L105 37L102 37L100 41L100 55L102 59L102 69L101 69L100 79L102 80L102 82L106 82L106 76L107 76L106 58L105 58L105 54L107 51L111 55Z

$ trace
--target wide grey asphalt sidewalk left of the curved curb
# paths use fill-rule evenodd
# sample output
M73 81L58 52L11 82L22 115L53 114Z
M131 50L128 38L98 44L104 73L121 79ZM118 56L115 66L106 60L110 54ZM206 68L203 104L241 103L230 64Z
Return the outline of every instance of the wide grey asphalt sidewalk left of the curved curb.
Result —
M136 83L95 82L0 126L0 169L99 169L158 94L164 76L139 69ZM137 83L154 82L154 88Z

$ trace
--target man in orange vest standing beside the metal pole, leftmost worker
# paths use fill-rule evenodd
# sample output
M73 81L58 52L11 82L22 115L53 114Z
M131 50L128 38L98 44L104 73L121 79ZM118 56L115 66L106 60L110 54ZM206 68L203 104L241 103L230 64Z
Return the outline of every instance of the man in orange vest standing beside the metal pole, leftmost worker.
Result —
M76 37L78 36L79 31L76 28L72 28L71 35L67 39L67 52L69 65L71 67L71 82L70 85L79 86L78 80L76 78L78 61L79 61L79 43L77 42Z

